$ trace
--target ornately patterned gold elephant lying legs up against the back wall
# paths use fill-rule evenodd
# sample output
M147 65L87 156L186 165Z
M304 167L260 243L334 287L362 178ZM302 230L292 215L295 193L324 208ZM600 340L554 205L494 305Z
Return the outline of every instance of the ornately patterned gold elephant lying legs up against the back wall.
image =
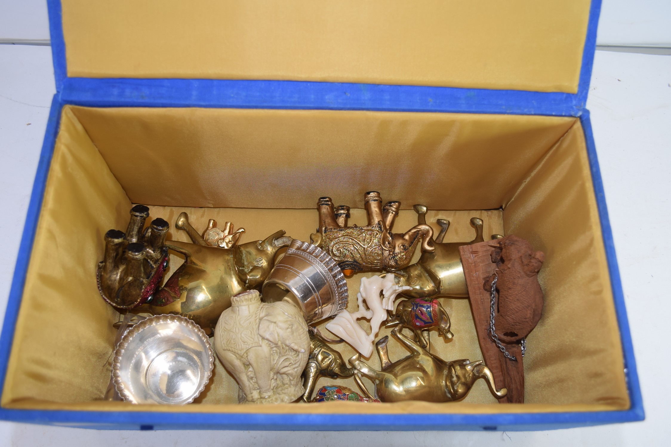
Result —
M433 252L433 229L426 222L403 234L392 233L401 202L387 202L382 208L380 193L370 191L364 203L367 227L348 227L350 207L340 205L334 210L330 197L319 198L317 204L319 229L313 243L331 255L346 276L358 271L402 269L410 263L420 239L422 251Z

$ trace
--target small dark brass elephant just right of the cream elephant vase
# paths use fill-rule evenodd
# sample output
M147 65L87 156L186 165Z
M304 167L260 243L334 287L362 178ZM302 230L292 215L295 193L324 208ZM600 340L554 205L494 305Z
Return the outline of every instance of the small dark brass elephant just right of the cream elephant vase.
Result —
M330 377L331 379L347 379L354 375L354 368L349 368L340 353L326 344L325 340L317 334L311 326L310 330L310 356L303 372L303 387L305 394L301 398L304 402L312 399L315 385L319 377ZM342 342L342 340L340 340Z

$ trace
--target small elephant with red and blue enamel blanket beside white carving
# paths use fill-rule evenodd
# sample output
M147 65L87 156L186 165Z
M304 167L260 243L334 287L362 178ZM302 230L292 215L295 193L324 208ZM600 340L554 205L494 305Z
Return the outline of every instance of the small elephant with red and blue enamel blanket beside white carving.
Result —
M438 334L448 340L454 337L450 331L450 316L438 300L427 300L424 298L413 298L403 300L396 306L395 315L387 320L386 328L393 326L409 328L415 332L415 341L422 348L429 346L429 336L423 336L423 331L436 328Z

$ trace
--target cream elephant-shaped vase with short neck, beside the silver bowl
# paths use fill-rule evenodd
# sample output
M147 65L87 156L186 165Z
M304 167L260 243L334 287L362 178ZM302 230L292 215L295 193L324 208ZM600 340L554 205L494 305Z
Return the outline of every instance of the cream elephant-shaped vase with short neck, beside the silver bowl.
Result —
M240 403L289 403L303 395L310 338L291 302L262 303L256 290L234 296L217 322L214 348L240 385Z

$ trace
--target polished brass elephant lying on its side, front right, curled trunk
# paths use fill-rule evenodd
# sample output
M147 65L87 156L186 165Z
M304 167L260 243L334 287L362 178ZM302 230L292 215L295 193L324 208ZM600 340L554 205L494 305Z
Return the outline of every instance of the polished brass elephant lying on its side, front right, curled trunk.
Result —
M401 328L394 328L391 334L409 348L411 355L391 363L386 350L389 336L384 336L376 343L382 371L366 365L358 354L349 360L358 375L364 375L373 381L375 393L380 401L456 401L466 397L478 379L484 379L491 393L497 398L504 397L508 393L505 388L496 389L492 372L482 365L482 361L446 362L431 355L419 344L401 334Z

